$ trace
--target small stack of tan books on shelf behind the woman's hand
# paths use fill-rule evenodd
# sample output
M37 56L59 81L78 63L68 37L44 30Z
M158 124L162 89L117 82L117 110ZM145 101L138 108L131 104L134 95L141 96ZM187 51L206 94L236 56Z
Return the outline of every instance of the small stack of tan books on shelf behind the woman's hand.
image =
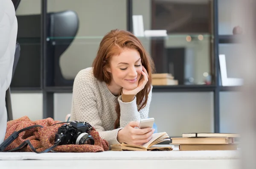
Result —
M170 73L154 73L152 74L152 85L178 85L178 80L175 80Z

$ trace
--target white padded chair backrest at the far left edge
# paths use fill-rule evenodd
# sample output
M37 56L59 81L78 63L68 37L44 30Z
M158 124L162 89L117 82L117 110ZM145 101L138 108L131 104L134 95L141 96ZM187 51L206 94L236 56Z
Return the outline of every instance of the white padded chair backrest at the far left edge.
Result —
M0 0L0 144L6 133L6 90L12 80L17 39L17 18L10 0Z

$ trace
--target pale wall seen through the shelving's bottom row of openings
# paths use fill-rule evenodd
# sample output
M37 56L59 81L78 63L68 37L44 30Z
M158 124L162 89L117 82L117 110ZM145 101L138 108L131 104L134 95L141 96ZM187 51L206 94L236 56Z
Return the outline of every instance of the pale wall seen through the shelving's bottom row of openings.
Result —
M54 95L55 120L64 121L71 110L71 93ZM23 115L31 120L42 118L42 94L12 94L14 118ZM220 94L221 132L236 132L236 115L240 109L240 93ZM213 93L153 93L149 116L154 117L158 131L178 136L182 132L213 132Z

